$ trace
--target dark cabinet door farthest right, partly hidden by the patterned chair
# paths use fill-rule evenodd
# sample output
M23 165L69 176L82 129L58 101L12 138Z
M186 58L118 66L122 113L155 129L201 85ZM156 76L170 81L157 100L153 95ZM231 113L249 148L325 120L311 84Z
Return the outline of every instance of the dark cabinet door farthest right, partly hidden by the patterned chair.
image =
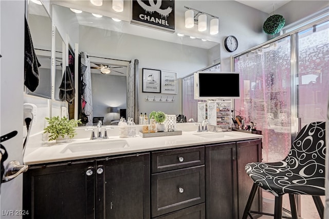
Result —
M237 186L239 191L239 218L242 218L243 211L247 204L247 200L253 185L253 181L247 175L245 166L250 162L262 161L262 141L249 140L236 143L237 149L237 179L239 180ZM262 193L259 189L258 193L253 199L251 210L262 211Z

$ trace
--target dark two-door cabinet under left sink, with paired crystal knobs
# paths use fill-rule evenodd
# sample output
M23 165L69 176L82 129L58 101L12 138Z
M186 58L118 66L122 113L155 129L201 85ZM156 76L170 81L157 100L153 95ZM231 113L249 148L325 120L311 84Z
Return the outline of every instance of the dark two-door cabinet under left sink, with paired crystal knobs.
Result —
M32 166L24 218L150 218L149 153ZM129 209L129 210L127 210Z

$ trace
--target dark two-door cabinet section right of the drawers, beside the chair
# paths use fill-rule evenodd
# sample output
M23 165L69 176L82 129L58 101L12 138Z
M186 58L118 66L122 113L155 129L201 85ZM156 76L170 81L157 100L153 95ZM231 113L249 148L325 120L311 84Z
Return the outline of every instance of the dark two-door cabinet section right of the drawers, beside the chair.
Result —
M206 218L242 217L252 186L245 165L261 161L261 149L259 139L206 146ZM259 193L253 207L261 206Z

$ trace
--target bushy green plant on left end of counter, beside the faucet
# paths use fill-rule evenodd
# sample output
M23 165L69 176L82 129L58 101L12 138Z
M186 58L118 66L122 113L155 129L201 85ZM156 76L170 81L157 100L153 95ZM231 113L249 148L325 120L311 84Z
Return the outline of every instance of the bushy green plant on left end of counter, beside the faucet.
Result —
M56 140L57 143L65 142L68 138L73 138L76 135L75 127L81 123L80 119L68 119L54 116L46 118L48 126L45 127L44 133L49 133L49 141Z

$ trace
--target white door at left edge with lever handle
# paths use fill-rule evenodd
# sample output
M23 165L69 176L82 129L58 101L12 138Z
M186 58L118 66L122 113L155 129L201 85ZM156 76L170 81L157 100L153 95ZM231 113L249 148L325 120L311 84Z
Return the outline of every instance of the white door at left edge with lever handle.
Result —
M0 1L0 136L17 134L1 144L9 161L22 164L23 90L24 90L24 16L25 1ZM25 136L24 136L25 137ZM23 177L3 182L0 191L0 218L21 218Z

